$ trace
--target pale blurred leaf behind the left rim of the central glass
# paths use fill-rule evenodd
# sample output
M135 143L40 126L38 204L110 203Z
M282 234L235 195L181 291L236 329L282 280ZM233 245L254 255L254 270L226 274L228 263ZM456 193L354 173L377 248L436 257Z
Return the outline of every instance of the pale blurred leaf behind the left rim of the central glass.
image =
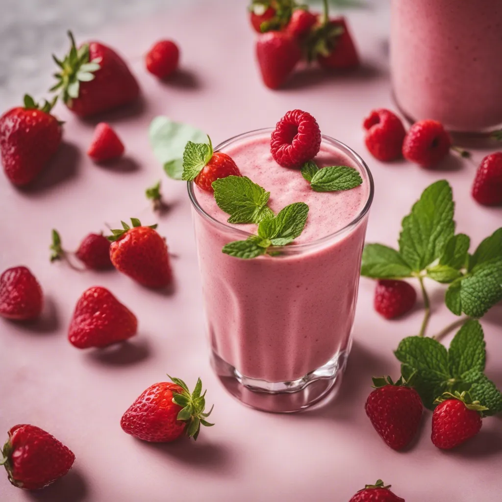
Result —
M181 122L174 122L166 116L155 117L150 123L150 145L157 160L164 165L168 176L181 179L182 158L189 141L204 143L206 134L200 129Z

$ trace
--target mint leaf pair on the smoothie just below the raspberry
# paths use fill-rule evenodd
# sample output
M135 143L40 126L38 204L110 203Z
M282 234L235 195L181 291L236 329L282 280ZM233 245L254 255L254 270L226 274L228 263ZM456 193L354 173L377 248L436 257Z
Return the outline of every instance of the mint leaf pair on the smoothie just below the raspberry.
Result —
M362 183L359 171L353 167L332 166L319 169L312 160L303 165L301 173L316 192L351 190Z

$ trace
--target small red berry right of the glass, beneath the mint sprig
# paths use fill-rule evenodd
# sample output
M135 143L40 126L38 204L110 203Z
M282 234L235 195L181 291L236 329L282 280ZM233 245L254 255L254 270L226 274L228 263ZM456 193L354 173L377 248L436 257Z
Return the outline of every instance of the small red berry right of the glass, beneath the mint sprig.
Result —
M386 319L409 312L417 301L415 288L406 281L381 279L375 288L374 309Z

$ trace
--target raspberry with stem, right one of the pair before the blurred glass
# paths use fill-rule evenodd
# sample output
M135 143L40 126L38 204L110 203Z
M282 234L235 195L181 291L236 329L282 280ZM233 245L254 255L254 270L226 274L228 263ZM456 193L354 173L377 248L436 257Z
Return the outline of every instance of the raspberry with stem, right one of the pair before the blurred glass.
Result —
M403 156L416 164L431 168L449 153L451 139L443 124L436 120L420 120L408 131L403 143Z

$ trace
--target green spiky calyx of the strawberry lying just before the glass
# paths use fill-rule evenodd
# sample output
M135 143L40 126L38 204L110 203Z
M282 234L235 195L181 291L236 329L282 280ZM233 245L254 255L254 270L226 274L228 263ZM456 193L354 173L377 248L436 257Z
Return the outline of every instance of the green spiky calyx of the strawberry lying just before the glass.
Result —
M214 405L211 406L211 409L204 413L204 409L206 406L206 392L202 393L202 381L197 379L197 383L195 384L195 389L192 393L190 393L187 385L183 380L178 378L173 378L169 374L167 375L171 379L171 381L181 387L183 389L182 392L177 393L173 392L173 403L181 406L182 409L179 411L177 420L182 422L186 422L185 432L189 438L193 437L196 441L199 436L200 426L203 425L205 427L212 427L214 424L211 424L206 420L211 412L213 411Z

